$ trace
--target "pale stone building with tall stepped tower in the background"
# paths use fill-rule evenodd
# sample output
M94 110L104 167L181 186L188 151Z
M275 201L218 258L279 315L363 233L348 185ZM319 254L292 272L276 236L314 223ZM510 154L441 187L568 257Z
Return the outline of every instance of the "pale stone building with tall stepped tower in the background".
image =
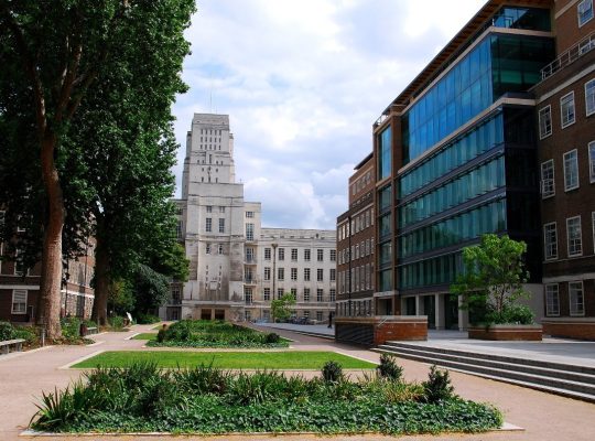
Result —
M260 203L246 202L244 184L235 182L232 154L229 117L195 114L186 139L182 198L175 201L190 278L186 283L172 283L172 297L160 309L161 318L269 320L273 292L282 289L301 299L298 316L326 319L335 308L336 288L331 280L332 275L336 278L335 260L331 260L331 255L336 258L335 232L262 228ZM270 268L273 244L277 252L286 249L286 260L275 260L274 277ZM294 249L302 257L306 248L312 254L309 288L303 281L305 262L291 260ZM316 260L318 249L324 252L322 262ZM323 270L321 282L316 280L318 268ZM309 289L312 300L305 302Z

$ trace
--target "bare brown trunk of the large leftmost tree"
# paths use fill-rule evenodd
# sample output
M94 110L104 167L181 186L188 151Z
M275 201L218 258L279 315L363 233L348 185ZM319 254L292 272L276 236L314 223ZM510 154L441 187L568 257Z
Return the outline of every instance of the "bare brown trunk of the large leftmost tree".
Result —
M45 326L48 338L60 338L62 229L64 227L64 197L54 162L57 137L46 131L41 142L42 178L47 196L47 223L43 236L42 276L40 281L40 313L37 323Z

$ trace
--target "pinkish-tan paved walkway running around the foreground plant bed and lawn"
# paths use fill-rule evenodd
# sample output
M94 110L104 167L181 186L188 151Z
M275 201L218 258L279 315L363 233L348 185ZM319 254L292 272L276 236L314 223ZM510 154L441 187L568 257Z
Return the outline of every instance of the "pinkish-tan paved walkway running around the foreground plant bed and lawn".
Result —
M147 332L150 325L134 326L134 332ZM310 326L309 326L310 327ZM296 334L288 330L279 330L282 336L293 340L295 349L337 351L351 356L378 362L379 355L361 347L336 344L328 340ZM55 346L41 351L0 356L0 440L17 440L19 433L28 426L35 412L34 399L42 390L53 391L55 387L64 388L73 379L80 376L79 370L61 368L83 356L97 351L147 351L143 341L125 340L131 333L107 333L94 336L98 342L94 346ZM101 342L101 343L100 343ZM429 366L423 363L399 359L404 367L408 380L422 381L428 376ZM524 428L521 432L491 432L483 434L445 434L440 437L402 437L400 439L446 441L446 440L572 440L592 441L595 439L595 405L563 398L545 392L526 389L504 383L491 381L466 374L452 372L452 380L456 392L467 399L487 401L497 406L505 413L505 420ZM154 437L98 437L90 440L151 440ZM388 440L390 437L354 435L354 437L310 437L310 435L236 435L236 437L176 437L175 439L194 440ZM20 437L20 439L32 439ZM56 437L53 439L74 438Z

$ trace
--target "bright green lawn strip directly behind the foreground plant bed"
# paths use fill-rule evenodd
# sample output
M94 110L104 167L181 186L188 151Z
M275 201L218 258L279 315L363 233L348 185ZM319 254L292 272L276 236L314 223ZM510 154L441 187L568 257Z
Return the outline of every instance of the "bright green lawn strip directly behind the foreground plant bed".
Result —
M201 364L224 369L321 369L326 362L344 369L372 369L376 364L334 352L105 352L74 365L74 368L122 367L132 362L155 362L159 367L193 367Z

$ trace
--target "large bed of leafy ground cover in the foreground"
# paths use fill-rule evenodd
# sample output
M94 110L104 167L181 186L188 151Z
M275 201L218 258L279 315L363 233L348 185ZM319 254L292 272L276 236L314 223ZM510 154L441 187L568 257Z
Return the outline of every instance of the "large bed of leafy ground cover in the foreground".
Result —
M436 377L433 370L423 384L374 375L354 383L340 374L333 380L304 379L204 365L161 370L154 363L137 363L95 369L65 390L43 395L31 427L54 432L403 434L501 426L497 409L454 396L442 381L446 377L448 386L447 373Z

